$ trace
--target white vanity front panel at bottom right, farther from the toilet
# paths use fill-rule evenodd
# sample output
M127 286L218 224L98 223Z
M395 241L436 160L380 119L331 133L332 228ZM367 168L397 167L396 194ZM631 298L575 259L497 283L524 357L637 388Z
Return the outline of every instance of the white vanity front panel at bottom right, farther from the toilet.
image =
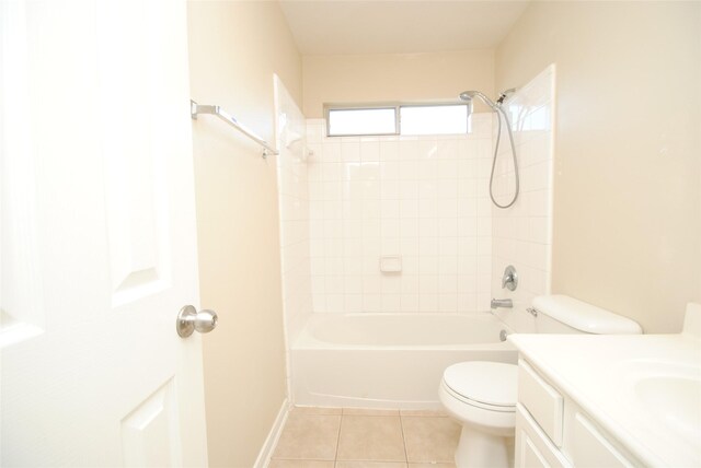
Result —
M604 434L582 413L574 418L572 460L579 467L632 468Z

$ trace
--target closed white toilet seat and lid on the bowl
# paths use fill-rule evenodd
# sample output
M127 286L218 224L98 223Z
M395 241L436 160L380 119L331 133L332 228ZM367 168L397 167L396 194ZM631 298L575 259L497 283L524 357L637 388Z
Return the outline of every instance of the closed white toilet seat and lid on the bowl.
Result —
M463 403L490 411L515 412L518 367L501 362L469 361L446 368L445 390Z

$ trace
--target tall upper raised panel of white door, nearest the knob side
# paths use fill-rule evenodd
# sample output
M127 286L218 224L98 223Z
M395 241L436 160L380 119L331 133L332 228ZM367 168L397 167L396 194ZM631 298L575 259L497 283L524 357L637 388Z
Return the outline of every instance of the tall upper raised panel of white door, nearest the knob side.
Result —
M165 30L159 2L97 3L100 44L99 105L103 109L102 152L113 305L118 306L170 285L168 184L171 121L166 69L171 46L159 40ZM124 24L129 24L124 34ZM143 43L143 37L153 37ZM174 63L176 67L177 65ZM174 91L174 90L173 90ZM172 112L177 112L171 109ZM129 138L125 139L124 136Z

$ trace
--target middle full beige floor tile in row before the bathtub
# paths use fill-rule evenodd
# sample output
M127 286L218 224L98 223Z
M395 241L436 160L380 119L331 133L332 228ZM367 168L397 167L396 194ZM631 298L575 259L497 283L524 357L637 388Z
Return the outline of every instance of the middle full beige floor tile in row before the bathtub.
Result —
M344 416L337 459L406 461L400 418Z

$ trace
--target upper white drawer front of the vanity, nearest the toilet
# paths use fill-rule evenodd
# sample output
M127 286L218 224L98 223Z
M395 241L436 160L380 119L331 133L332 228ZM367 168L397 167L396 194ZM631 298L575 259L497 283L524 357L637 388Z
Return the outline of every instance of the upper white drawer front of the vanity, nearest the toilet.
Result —
M562 395L524 360L518 361L518 401L526 407L550 440L562 446Z

